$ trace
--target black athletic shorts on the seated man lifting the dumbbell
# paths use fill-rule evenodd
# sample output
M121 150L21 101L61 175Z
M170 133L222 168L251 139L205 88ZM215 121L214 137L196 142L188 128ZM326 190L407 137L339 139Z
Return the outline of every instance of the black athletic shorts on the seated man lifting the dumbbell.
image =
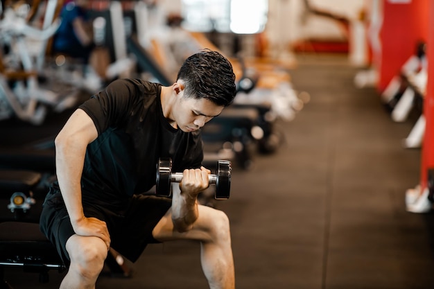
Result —
M83 203L83 210L86 217L105 221L111 238L110 247L135 262L146 245L159 243L153 238L152 231L171 205L170 198L134 195L123 207L107 209L107 206L92 202ZM51 188L46 196L40 229L55 245L64 263L69 264L66 243L75 232L58 189Z

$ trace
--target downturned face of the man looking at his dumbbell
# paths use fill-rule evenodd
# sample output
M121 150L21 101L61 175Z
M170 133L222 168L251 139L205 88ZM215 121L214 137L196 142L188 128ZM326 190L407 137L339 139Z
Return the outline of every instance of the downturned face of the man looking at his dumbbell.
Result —
M186 98L183 93L177 98L176 104L173 114L177 127L183 132L193 132L202 128L224 108L205 98Z

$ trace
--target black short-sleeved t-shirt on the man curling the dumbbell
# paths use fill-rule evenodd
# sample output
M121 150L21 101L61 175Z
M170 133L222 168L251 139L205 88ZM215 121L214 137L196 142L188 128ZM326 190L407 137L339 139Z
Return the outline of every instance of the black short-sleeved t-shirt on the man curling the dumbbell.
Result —
M98 138L87 146L83 200L124 199L155 185L159 157L171 157L173 171L198 168L200 132L182 132L164 118L161 85L115 80L80 109L94 121Z

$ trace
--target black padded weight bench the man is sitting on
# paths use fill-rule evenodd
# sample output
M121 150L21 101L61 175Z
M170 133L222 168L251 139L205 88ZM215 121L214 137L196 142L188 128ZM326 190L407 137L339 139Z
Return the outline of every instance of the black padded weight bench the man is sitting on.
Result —
M49 270L62 272L67 268L39 229L43 199L33 198L32 191L41 181L42 174L32 170L0 169L0 289L10 288L3 280L3 268L7 266L37 272L41 282L49 281ZM105 265L113 277L132 277L123 256L113 249Z

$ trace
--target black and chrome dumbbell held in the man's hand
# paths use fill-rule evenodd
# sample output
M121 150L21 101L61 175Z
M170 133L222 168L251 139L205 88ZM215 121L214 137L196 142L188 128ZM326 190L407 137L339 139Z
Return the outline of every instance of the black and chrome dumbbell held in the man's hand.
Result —
M220 160L217 164L217 174L208 175L209 184L216 184L216 200L225 200L229 198L231 189L231 172L232 166L230 161ZM157 195L170 197L171 183L181 182L182 173L172 173L172 159L159 159L157 164Z

